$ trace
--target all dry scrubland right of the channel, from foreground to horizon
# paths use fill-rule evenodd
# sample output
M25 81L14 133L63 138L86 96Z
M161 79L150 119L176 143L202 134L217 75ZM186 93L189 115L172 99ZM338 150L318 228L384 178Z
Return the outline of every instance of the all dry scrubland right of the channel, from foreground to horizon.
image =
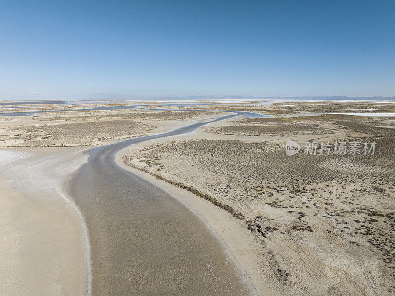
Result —
M393 105L348 104L393 111ZM330 112L340 105L345 107L323 104ZM287 112L303 115L321 107L286 106L283 117L206 127L200 139L136 148L123 160L244 220L284 295L390 295L395 292L395 118L289 117ZM373 156L300 152L288 157L286 139L299 142L302 150L308 139L367 140L377 146Z

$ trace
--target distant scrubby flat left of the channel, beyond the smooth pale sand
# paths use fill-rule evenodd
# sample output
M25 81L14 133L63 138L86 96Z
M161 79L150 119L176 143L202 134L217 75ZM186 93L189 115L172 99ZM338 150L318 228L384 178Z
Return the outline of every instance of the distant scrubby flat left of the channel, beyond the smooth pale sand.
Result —
M73 108L80 107L74 106ZM71 107L67 105L36 106L21 109L4 108L1 111L34 112L60 109L71 109ZM217 112L150 112L132 109L51 112L37 113L35 116L28 117L0 117L0 147L104 145L120 139L153 133L158 126L164 125L167 121L182 121L217 114Z

